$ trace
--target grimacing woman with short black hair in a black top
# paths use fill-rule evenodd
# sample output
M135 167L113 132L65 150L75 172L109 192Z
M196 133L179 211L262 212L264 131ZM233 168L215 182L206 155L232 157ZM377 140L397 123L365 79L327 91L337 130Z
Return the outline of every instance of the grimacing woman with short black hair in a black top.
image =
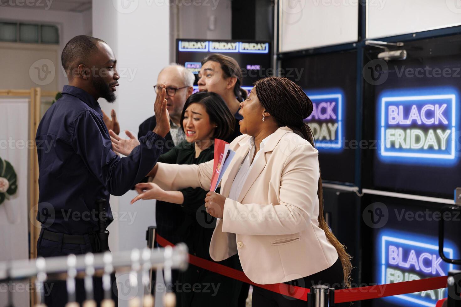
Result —
M159 162L199 164L213 160L214 139L227 139L233 133L234 121L234 116L218 94L201 92L191 95L181 115L186 141L160 156ZM162 206L181 206L183 215L177 218L183 223L177 230L177 236L188 245L191 255L213 261L209 247L216 219L205 211L207 191L201 188L164 191L154 183L140 183L136 185L136 191L140 194L132 203L139 199L156 199L162 201ZM235 260L229 258L219 263L232 267ZM242 283L189 264L187 271L179 273L178 284L173 286L177 293L177 306L234 307L237 306Z

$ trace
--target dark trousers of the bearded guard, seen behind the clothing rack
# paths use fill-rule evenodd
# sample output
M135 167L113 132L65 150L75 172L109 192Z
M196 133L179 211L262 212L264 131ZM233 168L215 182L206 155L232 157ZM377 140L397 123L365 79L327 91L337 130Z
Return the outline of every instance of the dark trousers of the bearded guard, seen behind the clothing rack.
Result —
M68 244L62 242L54 242L40 237L37 241L37 255L40 257L54 257L65 255L81 255L88 252L94 252L94 247L91 244ZM115 306L118 306L118 289L115 280L115 274L111 275L112 283L112 300ZM64 307L67 303L67 287L64 280L47 280L44 285L45 304L47 307ZM100 302L104 299L104 291L102 289L102 278L93 278L93 299L97 306L100 307ZM82 304L86 300L85 287L83 279L76 279L76 298L77 302ZM43 302L42 302L43 303Z

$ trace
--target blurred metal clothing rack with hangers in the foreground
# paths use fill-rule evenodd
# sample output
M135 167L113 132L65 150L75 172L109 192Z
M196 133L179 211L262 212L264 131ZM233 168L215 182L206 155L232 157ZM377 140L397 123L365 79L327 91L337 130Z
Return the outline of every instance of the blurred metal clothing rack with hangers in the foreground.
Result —
M102 275L102 285L105 291L105 300L101 306L112 307L114 303L110 300L111 281L110 274L117 271L130 270L137 276L142 274L142 285L145 290L144 299L141 301L137 297L133 297L130 301L130 306L154 306L154 298L150 293L151 278L150 272L153 268L163 269L165 271L165 282L171 282L171 269L185 270L188 266L189 254L187 245L179 243L175 247L166 246L165 248L152 249L146 247L142 250L132 249L129 251L120 251L111 253L87 253L84 255L67 255L58 257L39 257L31 260L15 260L0 262L0 284L8 283L11 280L24 280L35 277L37 289L41 289L43 284L53 276L52 279L66 279L67 292L69 302L66 307L78 306L75 302L76 289L75 278L85 278L85 290L87 292L87 300L90 304L83 306L96 306L93 300L93 284L92 277L94 275ZM167 278L170 276L170 278ZM136 286L136 280L131 280L130 284ZM171 292L171 291L170 291ZM42 301L44 296L41 291L37 291L38 301ZM11 303L11 295L9 297ZM176 299L173 293L165 294L165 306L173 307L176 304ZM12 306L12 305L8 305Z

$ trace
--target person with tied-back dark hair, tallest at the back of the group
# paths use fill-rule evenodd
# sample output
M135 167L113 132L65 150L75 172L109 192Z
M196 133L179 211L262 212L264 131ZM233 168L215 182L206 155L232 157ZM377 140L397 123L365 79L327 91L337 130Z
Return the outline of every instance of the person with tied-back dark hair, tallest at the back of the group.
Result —
M197 83L199 91L219 94L236 118L234 133L226 139L230 143L242 134L238 124L242 117L238 110L240 103L248 96L247 91L241 87L242 70L235 59L219 53L207 56L201 65Z

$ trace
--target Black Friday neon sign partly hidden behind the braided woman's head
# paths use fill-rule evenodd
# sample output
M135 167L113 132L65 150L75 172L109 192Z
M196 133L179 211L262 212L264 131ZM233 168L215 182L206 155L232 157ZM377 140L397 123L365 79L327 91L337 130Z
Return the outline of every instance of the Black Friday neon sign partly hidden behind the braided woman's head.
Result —
M304 91L312 100L312 114L304 121L312 129L317 148L328 151L343 149L344 95L341 90Z

